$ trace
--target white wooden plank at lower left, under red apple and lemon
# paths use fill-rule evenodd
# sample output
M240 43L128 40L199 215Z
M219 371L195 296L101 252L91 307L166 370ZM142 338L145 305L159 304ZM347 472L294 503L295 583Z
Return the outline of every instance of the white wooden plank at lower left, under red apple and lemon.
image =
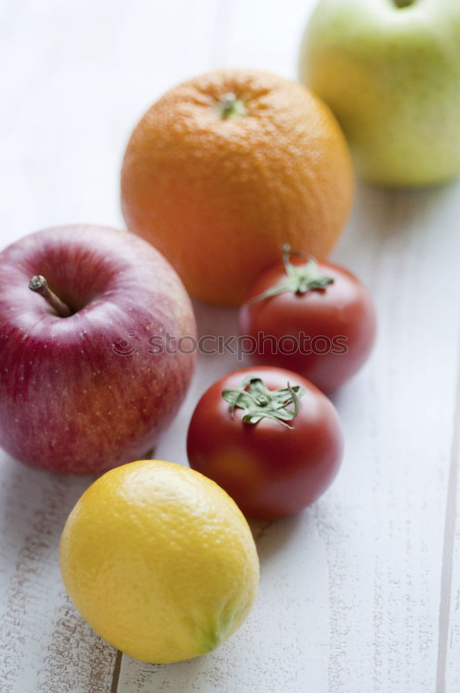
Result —
M64 592L60 533L89 479L41 473L0 455L1 693L105 693L115 651Z

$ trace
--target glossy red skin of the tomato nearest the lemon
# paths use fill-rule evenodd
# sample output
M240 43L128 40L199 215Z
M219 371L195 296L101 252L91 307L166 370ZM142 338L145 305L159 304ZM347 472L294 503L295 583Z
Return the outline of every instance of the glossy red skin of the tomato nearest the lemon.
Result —
M222 390L240 387L250 375L268 389L305 387L294 428L270 419L243 423L238 408L232 418ZM188 428L187 453L190 466L222 486L247 517L272 520L298 513L326 491L342 460L342 426L333 404L305 378L247 368L204 393Z

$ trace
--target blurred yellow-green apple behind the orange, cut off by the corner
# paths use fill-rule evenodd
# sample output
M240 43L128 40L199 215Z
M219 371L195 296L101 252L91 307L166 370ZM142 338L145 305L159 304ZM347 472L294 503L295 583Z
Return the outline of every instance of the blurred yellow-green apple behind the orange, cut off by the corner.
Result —
M460 173L460 0L321 0L300 77L366 179L420 187Z

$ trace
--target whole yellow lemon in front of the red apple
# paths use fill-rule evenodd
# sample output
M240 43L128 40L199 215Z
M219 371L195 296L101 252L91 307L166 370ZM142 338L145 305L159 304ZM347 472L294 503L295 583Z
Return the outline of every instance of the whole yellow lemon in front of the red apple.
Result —
M83 493L64 527L62 578L78 611L132 657L202 655L245 620L258 588L247 522L188 467L142 460Z

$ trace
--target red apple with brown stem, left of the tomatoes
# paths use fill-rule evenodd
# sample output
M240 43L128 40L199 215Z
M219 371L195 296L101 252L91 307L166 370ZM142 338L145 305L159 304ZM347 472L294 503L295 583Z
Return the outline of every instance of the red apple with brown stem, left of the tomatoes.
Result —
M13 243L0 253L0 446L67 474L143 457L195 363L148 340L195 330L179 277L132 234L66 226Z

